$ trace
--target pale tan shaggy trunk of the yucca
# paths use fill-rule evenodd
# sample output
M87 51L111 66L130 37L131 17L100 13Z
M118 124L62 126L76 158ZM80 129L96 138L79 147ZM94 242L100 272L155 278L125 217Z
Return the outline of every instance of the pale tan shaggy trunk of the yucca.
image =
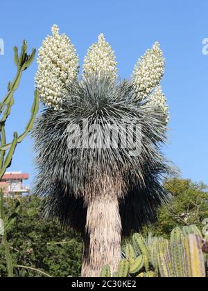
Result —
M89 204L84 238L83 277L98 277L109 265L116 272L121 261L121 218L117 197L98 196Z

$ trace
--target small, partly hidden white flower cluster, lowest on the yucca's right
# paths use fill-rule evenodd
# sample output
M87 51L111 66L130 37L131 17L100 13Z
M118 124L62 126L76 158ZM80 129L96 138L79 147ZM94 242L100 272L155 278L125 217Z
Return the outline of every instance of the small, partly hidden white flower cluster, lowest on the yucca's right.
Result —
M166 96L164 96L162 92L162 87L157 86L155 88L155 91L153 94L150 94L150 97L148 97L150 102L150 106L160 107L162 109L162 112L164 113L164 116L166 118L166 123L168 123L170 116L169 116L169 107L166 104Z

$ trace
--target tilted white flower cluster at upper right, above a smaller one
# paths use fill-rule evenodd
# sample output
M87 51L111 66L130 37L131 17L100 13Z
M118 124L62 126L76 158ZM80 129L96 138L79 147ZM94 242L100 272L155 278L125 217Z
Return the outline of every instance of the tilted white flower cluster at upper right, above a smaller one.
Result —
M159 84L164 75L165 59L159 42L146 51L133 71L132 80L139 98L146 98Z

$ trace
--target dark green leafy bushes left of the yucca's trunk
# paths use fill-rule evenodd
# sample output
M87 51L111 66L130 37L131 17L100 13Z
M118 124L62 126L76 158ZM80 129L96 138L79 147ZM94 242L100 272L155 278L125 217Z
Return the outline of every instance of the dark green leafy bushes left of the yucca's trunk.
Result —
M42 200L24 197L19 200L17 218L8 228L8 242L15 276L44 276L35 267L55 277L80 276L82 240L69 230L62 230L58 222L46 222L42 217ZM15 201L5 200L6 216L15 210ZM0 277L7 276L5 252L0 246Z

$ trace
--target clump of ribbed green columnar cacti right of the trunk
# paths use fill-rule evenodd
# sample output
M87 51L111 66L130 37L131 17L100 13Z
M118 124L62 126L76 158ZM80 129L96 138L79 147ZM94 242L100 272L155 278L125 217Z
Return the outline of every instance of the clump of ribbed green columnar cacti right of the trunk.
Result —
M125 259L113 276L205 277L208 260L203 252L207 253L207 238L202 238L196 225L173 229L170 240L152 236L145 240L135 233L132 244L123 248ZM101 276L111 276L110 268L103 267Z

